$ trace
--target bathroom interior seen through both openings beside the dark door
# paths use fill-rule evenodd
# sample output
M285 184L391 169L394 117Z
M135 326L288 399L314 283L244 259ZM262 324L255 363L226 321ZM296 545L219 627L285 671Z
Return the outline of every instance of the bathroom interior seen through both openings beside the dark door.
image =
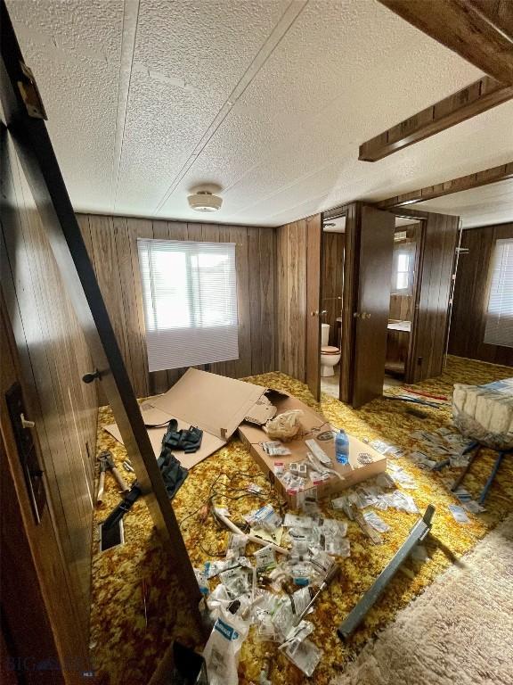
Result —
M321 391L339 398L346 217L322 226ZM383 387L408 381L421 222L395 219Z

